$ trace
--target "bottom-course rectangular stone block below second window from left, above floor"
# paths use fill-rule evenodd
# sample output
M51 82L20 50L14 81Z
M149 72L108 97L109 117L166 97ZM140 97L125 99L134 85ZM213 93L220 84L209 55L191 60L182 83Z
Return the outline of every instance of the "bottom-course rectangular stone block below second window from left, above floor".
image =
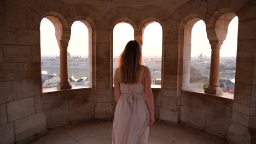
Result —
M94 103L69 105L70 121L94 118Z

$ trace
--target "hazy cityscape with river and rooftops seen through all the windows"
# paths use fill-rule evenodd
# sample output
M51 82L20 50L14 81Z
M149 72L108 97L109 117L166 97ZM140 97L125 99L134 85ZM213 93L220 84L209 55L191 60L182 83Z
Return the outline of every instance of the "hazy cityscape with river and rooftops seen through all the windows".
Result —
M191 91L203 92L208 86L211 58L200 53L191 57ZM152 88L161 88L161 57L144 57L143 65L150 69ZM42 87L56 87L59 77L59 56L42 56ZM117 57L113 58L113 71L117 68ZM236 57L220 57L219 87L223 92L234 94ZM71 56L68 53L68 77L72 87L91 87L88 80L88 57Z

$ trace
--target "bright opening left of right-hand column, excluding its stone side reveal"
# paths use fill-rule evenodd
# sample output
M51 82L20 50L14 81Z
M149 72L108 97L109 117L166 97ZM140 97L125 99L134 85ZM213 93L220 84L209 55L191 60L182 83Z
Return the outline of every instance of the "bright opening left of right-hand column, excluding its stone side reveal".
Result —
M205 22L197 21L191 31L190 88L202 91L210 78L211 45Z

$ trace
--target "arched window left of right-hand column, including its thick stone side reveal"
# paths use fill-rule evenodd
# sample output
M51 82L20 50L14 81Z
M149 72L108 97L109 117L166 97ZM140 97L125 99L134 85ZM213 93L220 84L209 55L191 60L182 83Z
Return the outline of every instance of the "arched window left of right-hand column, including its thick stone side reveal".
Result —
M210 79L211 45L205 22L189 20L184 27L183 90L204 92Z

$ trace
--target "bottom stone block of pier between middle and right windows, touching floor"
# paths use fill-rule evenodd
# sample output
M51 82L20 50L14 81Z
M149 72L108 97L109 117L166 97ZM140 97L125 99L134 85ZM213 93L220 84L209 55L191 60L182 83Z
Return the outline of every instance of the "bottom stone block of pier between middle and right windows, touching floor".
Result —
M177 106L163 104L160 108L159 119L177 123L178 113L179 110Z

